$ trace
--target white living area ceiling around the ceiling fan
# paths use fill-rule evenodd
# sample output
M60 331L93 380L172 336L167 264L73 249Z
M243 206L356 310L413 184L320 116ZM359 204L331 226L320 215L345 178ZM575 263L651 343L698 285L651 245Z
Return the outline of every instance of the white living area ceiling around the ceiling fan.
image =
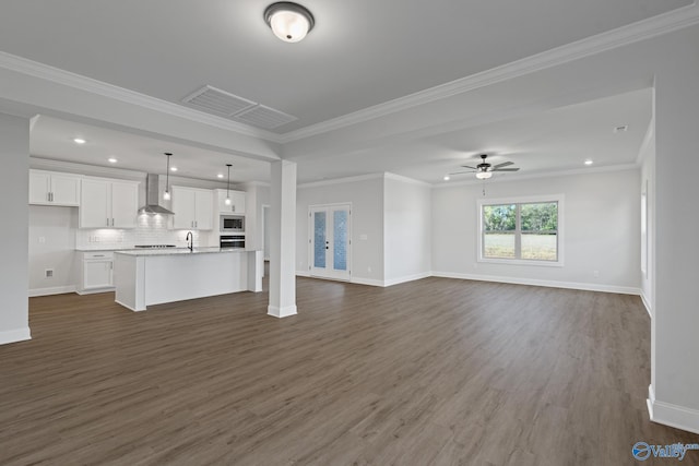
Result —
M299 178L324 178L390 171L430 184L443 183L446 174L478 163L489 154L491 164L510 160L517 174L496 178L535 176L585 167L635 164L652 112L651 89L633 91L583 104L537 112L524 118L459 129L362 152L313 160L299 160ZM628 131L614 132L619 126ZM452 176L450 182L472 180Z

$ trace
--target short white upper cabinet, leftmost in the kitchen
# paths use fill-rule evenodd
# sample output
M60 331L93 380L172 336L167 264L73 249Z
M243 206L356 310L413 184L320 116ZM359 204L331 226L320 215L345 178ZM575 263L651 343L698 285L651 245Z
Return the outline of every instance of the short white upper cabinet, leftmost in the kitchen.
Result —
M29 204L78 206L80 179L78 175L29 170Z

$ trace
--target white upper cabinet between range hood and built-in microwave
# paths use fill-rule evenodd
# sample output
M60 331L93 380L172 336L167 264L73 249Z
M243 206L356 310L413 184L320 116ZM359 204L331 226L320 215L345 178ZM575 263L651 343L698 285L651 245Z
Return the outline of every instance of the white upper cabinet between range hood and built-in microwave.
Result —
M171 189L174 229L213 229L213 191L185 187Z

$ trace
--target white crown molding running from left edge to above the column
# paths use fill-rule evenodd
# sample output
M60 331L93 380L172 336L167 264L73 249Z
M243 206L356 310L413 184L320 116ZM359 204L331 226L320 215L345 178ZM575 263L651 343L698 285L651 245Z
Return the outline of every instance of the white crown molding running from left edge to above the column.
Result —
M226 131L233 131L241 135L259 138L280 144L283 142L283 138L280 134L271 131L260 130L248 124L230 121L225 118L209 115L178 104L173 104L135 91L115 86L114 84L93 80L92 77L83 76L81 74L72 73L70 71L39 63L4 51L0 51L0 68L38 77L51 83L85 91L125 104L131 104L150 110L159 111L173 117L182 118Z

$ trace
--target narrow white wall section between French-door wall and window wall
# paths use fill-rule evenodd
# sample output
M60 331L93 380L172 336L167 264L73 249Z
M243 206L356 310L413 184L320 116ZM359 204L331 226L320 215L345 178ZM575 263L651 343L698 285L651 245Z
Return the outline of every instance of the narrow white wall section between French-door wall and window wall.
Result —
M387 174L383 189L384 285L429 276L431 187Z

